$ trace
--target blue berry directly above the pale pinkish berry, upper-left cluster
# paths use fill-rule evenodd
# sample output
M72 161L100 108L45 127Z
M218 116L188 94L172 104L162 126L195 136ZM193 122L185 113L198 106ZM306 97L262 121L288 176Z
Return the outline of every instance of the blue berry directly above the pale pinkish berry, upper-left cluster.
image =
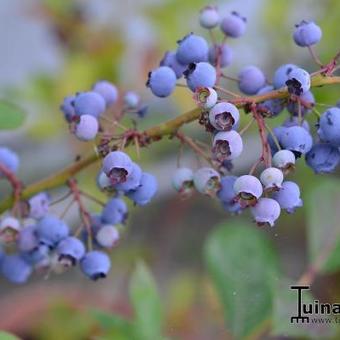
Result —
M91 115L98 118L105 111L105 100L94 91L79 93L74 99L74 111L78 116Z

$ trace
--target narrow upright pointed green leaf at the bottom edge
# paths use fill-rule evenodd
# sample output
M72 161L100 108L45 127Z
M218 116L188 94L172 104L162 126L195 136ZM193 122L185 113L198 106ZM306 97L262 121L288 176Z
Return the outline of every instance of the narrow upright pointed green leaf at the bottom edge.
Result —
M130 281L130 299L135 312L135 332L140 339L161 339L162 308L156 283L139 262Z

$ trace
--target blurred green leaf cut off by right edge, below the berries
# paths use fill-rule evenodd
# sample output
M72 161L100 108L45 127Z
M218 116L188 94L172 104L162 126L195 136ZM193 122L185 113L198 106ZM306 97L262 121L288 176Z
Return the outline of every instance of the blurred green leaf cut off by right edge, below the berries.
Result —
M340 181L326 180L308 196L310 262L321 272L340 268Z

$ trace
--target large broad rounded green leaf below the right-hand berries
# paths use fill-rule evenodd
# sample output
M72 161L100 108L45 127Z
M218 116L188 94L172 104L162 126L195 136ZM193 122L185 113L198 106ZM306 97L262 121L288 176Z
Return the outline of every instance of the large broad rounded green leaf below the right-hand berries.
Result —
M225 223L209 236L205 261L235 338L249 335L272 309L277 257L265 231L247 223Z

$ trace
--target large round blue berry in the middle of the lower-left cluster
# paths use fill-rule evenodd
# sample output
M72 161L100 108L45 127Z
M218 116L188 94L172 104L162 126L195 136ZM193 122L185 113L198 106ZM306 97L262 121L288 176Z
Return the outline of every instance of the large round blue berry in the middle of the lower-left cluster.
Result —
M47 215L38 221L36 233L40 243L53 248L69 234L69 227L61 219Z

